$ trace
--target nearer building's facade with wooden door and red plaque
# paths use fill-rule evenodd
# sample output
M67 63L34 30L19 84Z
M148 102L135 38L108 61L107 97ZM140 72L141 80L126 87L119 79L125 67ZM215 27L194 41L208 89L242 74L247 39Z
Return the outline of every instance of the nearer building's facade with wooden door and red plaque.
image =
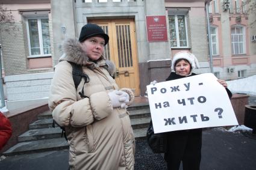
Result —
M197 73L210 71L204 0L25 0L2 4L14 15L16 26L13 31L10 25L1 25L9 103L47 100L63 40L77 38L89 22L97 23L110 36L104 56L116 64L119 86L130 87L136 96L144 96L152 80L166 79L171 58L180 50L198 57L201 68ZM151 19L156 23L150 25ZM159 39L154 40L150 31ZM167 37L161 37L165 32Z

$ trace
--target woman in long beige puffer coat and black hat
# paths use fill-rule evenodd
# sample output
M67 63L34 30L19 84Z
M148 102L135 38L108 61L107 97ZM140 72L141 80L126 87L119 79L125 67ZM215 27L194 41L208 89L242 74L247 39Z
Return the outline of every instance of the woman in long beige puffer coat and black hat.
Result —
M126 111L134 95L128 88L119 90L110 75L113 65L105 69L102 53L107 43L108 35L89 23L83 26L79 41L64 42L64 55L55 67L49 108L66 129L70 169L134 167L135 142ZM89 82L82 79L77 90L69 62L82 65L89 76Z

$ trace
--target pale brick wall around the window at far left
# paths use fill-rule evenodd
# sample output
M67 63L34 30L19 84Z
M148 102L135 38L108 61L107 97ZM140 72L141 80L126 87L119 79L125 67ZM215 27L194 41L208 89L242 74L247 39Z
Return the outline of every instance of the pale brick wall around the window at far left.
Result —
M49 24L52 43L52 23ZM28 37L25 21L1 25L2 58L5 75L45 73L52 68L28 69ZM53 53L53 45L52 45Z

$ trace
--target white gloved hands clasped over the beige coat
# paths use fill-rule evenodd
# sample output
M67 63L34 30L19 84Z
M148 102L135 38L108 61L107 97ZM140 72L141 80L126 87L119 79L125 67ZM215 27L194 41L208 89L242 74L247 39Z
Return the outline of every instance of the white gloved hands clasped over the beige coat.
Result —
M113 108L118 108L120 106L120 108L125 109L128 107L127 103L130 101L128 93L120 90L114 90L108 93L108 96L110 97Z

